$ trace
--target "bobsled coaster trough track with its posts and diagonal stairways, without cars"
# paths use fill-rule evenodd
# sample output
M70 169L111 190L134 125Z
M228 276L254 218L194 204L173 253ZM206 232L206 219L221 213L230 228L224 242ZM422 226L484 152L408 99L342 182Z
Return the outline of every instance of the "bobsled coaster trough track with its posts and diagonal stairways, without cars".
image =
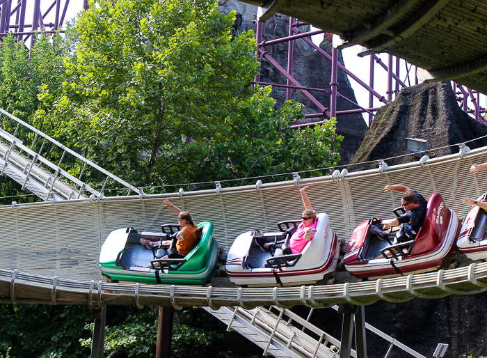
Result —
M458 217L465 217L470 208L461 203L461 199L479 197L487 188L487 176L468 170L472 164L487 161L487 148L470 150L468 143L459 143L458 154L423 157L418 162L398 166L387 166L385 159L378 169L355 173L343 169L329 176L309 179L301 179L296 173L294 180L287 182L258 180L254 185L229 188L217 182L215 189L195 192L179 189L173 194L148 195L15 116L5 111L2 114L3 120L14 121L15 125L10 127L15 128L15 132L21 126L31 130L33 143L24 143L15 137L15 132L1 131L0 170L24 187L32 188L31 191L44 201L13 202L0 207L3 223L1 303L85 304L95 312L106 305L157 305L175 309L201 306L227 322L229 329L240 329L242 334L253 332L256 336L251 339L276 357L333 357L337 354L336 347L340 347L341 357L363 357L359 341L356 352L351 350L351 341L349 344L354 317L356 336L365 337L357 331L363 328L361 332L365 332L364 327L367 327L363 305L379 299L404 302L414 297L438 298L452 293L472 295L487 289L487 263L474 262L463 254L458 256L459 265L453 269L449 269L451 260L445 260L438 271L406 273L373 281L358 281L346 270L337 270L336 279L342 283L326 285L325 277L324 281L310 286L262 288L235 287L221 270L217 270L214 279L203 287L111 283L104 280L98 265L102 244L112 231L129 226L157 232L161 224L172 222L174 213L163 206L166 198L182 210L191 210L196 221L212 222L213 237L223 247L224 254L234 239L249 228L276 231L275 225L282 219L299 217L298 188L305 185L310 186L307 192L314 209L326 212L330 228L338 238L344 238L345 243L362 221L371 215L388 217L391 208L399 205L399 194L383 192L385 185L394 182L406 183L425 196L441 193L447 208L454 210ZM54 146L62 153L57 165L45 157L44 151ZM113 180L126 189L126 194L105 196L109 192L104 187L93 188L82 182L83 171L78 178L72 177L61 169L61 162L67 155L76 156L83 168L90 166L106 176L104 187ZM132 192L136 195L130 195ZM295 305L314 309L337 304L342 305L342 313L348 317L344 320L344 332L348 329L349 334L342 332L341 343L289 311ZM262 306L275 307L277 313ZM303 338L292 325L282 323L283 315L307 327L318 338L314 341L308 336ZM94 340L94 346L99 348L101 316L98 321L95 325L98 339ZM367 329L374 330L374 327ZM391 348L392 345L401 346L382 332L378 334L391 342ZM262 339L257 340L257 336ZM363 343L365 348L365 341ZM423 357L410 348L403 348L415 357Z

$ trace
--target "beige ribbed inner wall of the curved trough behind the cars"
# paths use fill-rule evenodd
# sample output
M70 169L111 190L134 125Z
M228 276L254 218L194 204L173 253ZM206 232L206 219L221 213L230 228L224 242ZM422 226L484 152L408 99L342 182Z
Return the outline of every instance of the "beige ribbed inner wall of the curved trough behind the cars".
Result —
M487 162L487 148L463 157L449 155L390 166L382 172L342 171L296 182L3 205L0 266L47 277L99 281L99 251L111 231L127 226L159 231L161 224L175 223L173 210L163 207L165 198L191 211L195 221L213 222L214 237L225 253L241 233L275 231L279 221L299 218L303 208L298 189L303 185L310 185L307 193L313 208L329 215L330 228L345 241L362 221L392 217L401 193L384 193L388 184L408 185L425 197L439 192L447 207L463 217L470 207L461 199L477 198L487 190L487 173L468 171L472 164L481 162Z

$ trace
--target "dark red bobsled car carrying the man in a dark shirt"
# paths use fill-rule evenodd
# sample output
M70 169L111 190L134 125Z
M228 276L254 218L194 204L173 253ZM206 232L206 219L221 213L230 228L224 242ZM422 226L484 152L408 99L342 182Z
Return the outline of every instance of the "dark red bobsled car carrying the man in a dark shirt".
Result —
M398 217L399 209L402 208L393 210ZM403 224L395 234L396 239L381 239L369 231L371 224L381 222L381 219L369 219L353 231L344 263L354 277L394 277L437 270L444 258L456 253L460 223L440 194L429 197L426 216L417 235Z

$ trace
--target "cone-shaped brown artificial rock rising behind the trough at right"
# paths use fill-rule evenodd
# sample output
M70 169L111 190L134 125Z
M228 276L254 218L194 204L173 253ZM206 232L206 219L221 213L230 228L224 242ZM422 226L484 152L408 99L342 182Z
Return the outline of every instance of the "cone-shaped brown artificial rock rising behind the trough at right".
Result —
M362 146L351 161L349 171L377 168L377 161L406 155L406 138L428 141L430 156L458 153L458 146L487 135L483 125L458 107L449 81L418 84L403 88L396 100L381 107L365 136ZM447 148L436 149L448 146ZM487 139L467 143L470 148L487 146ZM411 155L387 159L388 166L417 161ZM356 164L356 165L353 165Z

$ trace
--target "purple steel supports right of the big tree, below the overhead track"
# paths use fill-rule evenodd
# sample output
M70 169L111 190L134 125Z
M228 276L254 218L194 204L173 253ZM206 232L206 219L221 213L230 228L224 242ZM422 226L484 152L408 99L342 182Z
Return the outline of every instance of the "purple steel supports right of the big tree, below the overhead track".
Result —
M310 36L325 33L325 31L317 30L317 31L308 31L305 33L301 33L299 31L298 27L307 25L304 22L296 22L296 19L294 17L289 17L289 36L286 36L284 38L276 38L274 40L269 40L269 41L262 41L262 22L257 22L257 31L256 31L256 40L257 40L257 57L259 58L260 61L262 59L266 59L271 63L276 70L278 70L282 75L284 75L287 79L286 84L270 84L270 83L264 83L260 81L260 73L255 76L255 81L253 82L254 84L260 84L262 86L277 86L277 87L285 87L287 88L286 91L286 100L291 100L292 99L292 90L299 90L303 95L305 95L312 104L314 104L316 107L318 107L321 110L321 113L316 113L316 114L307 114L305 115L305 118L322 118L326 117L327 120L328 118L335 117L335 116L340 116L344 114L357 114L357 113L366 113L368 114L368 122L369 125L372 123L372 120L374 118L374 112L377 111L380 107L373 107L374 106L374 98L377 98L379 102L382 102L383 104L388 104L389 102L392 102L393 97L397 96L399 94L399 91L401 88L411 86L411 80L410 80L410 72L413 70L413 84L418 84L418 79L416 76L416 71L417 67L414 65L411 65L410 63L407 63L403 59L399 59L399 57L395 57L392 55L388 55L388 64L386 65L383 63L383 61L376 55L372 54L370 56L370 68L369 68L369 84L366 84L364 81L359 79L356 75L353 75L351 70L346 69L343 65L338 63L338 50L333 47L333 52L330 56L330 54L327 54L324 52L323 49L321 49L319 46L315 45L312 40L310 40ZM331 66L331 81L330 81L330 88L308 88L308 87L303 87L301 84L299 84L298 81L292 76L292 59L293 59L293 45L294 45L294 40L297 40L298 38L303 39L310 47L315 49L319 54L323 55L330 61L330 66ZM282 42L289 42L288 46L288 54L287 54L287 70L282 68L281 65L279 65L270 55L268 52L266 52L265 47L269 45L274 45ZM394 57L395 57L395 71L394 71ZM401 65L401 61L404 61L406 64L406 78L404 81L401 81L399 78L399 69ZM374 73L376 70L376 66L379 66L379 69L382 68L387 72L387 81L388 81L388 86L387 86L387 91L386 91L386 97L379 94L376 90L374 90ZM350 100L349 98L345 98L343 95L341 95L337 91L337 71L342 70L348 75L350 79L353 79L353 81L356 81L362 88L365 88L369 92L369 107L364 108L361 107L359 104L354 102L353 100ZM408 85L406 85L406 80L408 81ZM463 109L463 111L469 113L469 114L474 114L474 118L478 120L481 123L484 123L487 125L487 120L481 116L481 114L486 113L487 110L483 107L480 106L479 100L480 100L480 93L477 91L472 91L470 88L466 88L465 86L457 85L456 83L452 82L452 86L454 89L454 92L456 93L456 99L460 104L460 107ZM330 94L330 109L324 107L323 104L321 104L310 92L324 92ZM394 96L393 96L394 95ZM346 102L349 102L353 104L354 106L357 107L357 109L349 109L349 110L344 110L340 111L337 109L337 98L342 98L346 100ZM472 108L469 107L469 104L471 104ZM314 123L305 123L302 125L293 125L292 128L299 128L299 127L307 127L307 126L314 126L317 124L324 123L324 120L321 122L314 122Z

